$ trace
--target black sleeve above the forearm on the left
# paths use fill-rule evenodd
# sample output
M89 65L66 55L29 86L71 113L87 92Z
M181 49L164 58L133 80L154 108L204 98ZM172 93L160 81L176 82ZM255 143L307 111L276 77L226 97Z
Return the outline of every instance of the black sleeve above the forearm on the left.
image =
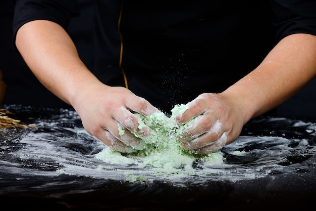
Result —
M18 29L33 20L54 21L67 30L71 17L78 16L77 0L14 0L13 41Z

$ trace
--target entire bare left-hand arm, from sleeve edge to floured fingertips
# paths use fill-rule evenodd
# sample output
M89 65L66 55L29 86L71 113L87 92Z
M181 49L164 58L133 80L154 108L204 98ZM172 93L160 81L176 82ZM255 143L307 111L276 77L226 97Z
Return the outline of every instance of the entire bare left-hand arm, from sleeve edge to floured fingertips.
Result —
M138 118L130 111L148 116L158 110L125 88L101 83L82 63L60 25L27 22L17 32L16 46L41 83L75 108L88 133L121 152L131 152L140 144L129 131L149 135L148 127L138 129ZM122 136L118 124L127 129Z

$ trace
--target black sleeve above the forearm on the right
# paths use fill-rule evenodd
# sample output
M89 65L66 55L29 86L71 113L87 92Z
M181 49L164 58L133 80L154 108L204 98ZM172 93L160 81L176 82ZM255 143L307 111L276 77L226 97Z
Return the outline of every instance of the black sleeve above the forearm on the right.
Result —
M277 40L294 33L316 35L316 0L272 0Z

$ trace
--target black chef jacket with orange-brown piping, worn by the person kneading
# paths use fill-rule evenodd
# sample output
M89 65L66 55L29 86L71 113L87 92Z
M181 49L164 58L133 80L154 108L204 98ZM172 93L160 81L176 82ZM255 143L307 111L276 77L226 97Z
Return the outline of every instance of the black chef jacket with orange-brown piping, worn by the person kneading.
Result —
M72 0L17 0L14 34L36 19L67 30L78 12ZM283 37L316 35L316 1L307 0L99 0L94 15L91 71L166 112L224 91Z

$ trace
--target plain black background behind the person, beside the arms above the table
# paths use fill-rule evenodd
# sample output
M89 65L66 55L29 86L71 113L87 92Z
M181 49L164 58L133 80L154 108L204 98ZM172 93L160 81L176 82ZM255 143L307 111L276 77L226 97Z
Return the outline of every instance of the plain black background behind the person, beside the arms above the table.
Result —
M92 7L95 1L79 0L81 16L69 26L79 55L88 67L92 67ZM0 69L4 73L7 92L4 104L69 107L47 91L28 69L12 45L13 4L0 1ZM294 97L278 107L279 116L316 117L316 78L313 78Z

